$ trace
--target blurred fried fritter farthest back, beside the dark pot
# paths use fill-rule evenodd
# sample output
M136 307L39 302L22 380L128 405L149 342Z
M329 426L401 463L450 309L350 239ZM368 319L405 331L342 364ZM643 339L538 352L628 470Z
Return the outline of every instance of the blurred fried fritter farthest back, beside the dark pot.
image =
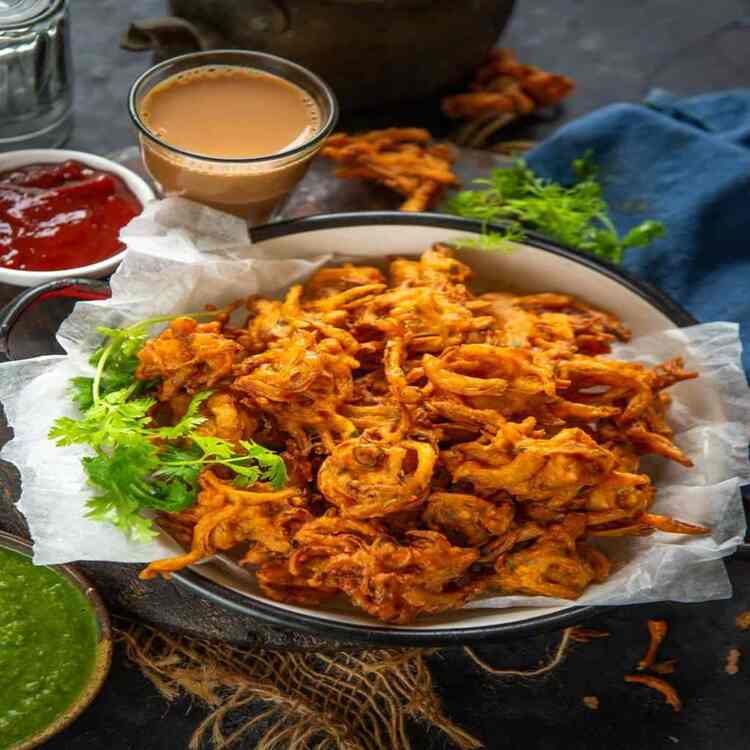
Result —
M479 148L498 130L537 109L558 104L574 88L567 76L522 65L507 49L494 49L476 73L469 93L443 99L451 119L469 120L456 142Z

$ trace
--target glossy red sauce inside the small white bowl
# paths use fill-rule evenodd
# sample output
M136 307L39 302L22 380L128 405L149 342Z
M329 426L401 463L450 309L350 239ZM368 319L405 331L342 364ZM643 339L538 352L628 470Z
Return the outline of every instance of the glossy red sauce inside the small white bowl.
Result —
M60 271L119 253L143 207L109 172L66 161L0 173L0 266Z

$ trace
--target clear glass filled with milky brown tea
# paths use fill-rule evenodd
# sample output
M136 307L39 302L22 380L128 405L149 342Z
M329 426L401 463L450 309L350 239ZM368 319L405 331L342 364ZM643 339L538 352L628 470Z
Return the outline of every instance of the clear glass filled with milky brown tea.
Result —
M314 73L241 50L166 60L135 81L128 106L162 194L251 225L283 204L338 118L333 92Z

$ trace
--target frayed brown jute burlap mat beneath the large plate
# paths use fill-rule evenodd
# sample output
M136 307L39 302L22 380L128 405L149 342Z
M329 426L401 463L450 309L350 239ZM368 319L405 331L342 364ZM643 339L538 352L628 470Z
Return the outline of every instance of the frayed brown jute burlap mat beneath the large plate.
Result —
M539 677L562 661L571 632L563 632L549 662L528 670L490 667L464 651L495 676ZM117 635L166 700L187 695L208 709L190 750L223 750L251 732L260 735L256 750L411 750L413 721L439 729L462 750L482 747L440 705L425 660L434 650L242 650L128 622Z

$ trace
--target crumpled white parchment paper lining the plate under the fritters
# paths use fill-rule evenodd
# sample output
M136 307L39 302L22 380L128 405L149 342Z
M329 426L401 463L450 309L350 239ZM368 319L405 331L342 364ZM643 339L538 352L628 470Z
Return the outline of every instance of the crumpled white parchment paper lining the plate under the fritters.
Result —
M29 523L37 564L146 562L178 549L166 537L134 543L115 528L86 519L85 503L92 491L80 464L83 449L57 448L47 439L58 416L75 416L65 390L70 378L91 374L87 359L100 343L96 326L200 310L207 303L223 305L254 293L278 296L321 265L343 259L330 254L264 257L260 247L250 244L243 222L180 198L149 204L122 238L128 253L112 277L112 298L79 302L60 327L58 340L67 356L0 365L0 400L15 433L2 457L21 473L18 507ZM699 381L671 389L676 442L695 468L652 461L649 473L658 487L653 510L707 525L712 532L705 537L657 532L597 541L613 560L614 572L577 603L702 601L731 595L720 558L731 554L744 537L739 487L750 479L750 393L741 367L738 326L709 323L674 329L619 346L615 356L654 363L677 355L701 374ZM699 391L690 391L696 387ZM718 400L702 400L700 394L708 391ZM470 606L553 603L542 597L489 597Z

